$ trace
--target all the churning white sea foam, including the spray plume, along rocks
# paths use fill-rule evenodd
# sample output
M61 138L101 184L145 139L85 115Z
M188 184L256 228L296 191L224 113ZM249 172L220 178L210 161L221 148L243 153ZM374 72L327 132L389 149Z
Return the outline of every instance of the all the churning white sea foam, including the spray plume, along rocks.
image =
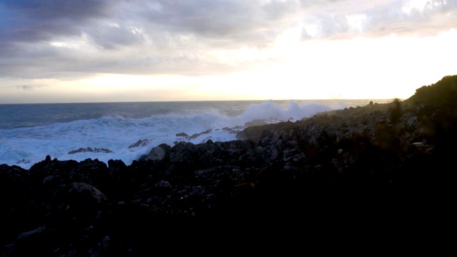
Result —
M344 104L328 106L309 102L300 104L297 101L280 104L264 101L248 105L245 111L235 116L229 116L227 113L230 110L224 111L220 106L219 109L202 106L195 114L181 112L144 118L109 115L100 119L0 129L0 163L30 168L49 155L59 160L98 158L105 163L110 159L119 159L130 165L161 143L173 146L176 141L231 141L236 139L235 132L243 129L249 121L296 121L319 111L343 107ZM144 145L133 146L139 140L144 141ZM111 152L69 153L88 147L108 149Z

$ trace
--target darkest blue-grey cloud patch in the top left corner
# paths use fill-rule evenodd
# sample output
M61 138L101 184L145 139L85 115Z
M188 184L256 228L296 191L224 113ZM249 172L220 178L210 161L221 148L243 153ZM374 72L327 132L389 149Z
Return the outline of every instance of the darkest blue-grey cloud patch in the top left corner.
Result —
M40 41L56 35L79 36L90 19L111 14L110 1L6 0L0 9L6 17L2 41Z

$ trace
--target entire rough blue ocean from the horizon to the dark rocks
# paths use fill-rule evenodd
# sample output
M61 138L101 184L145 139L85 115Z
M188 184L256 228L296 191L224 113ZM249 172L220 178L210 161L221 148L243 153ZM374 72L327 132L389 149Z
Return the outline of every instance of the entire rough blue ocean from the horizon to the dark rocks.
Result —
M0 104L0 164L61 161L126 165L161 143L231 141L251 121L298 121L321 111L393 99Z

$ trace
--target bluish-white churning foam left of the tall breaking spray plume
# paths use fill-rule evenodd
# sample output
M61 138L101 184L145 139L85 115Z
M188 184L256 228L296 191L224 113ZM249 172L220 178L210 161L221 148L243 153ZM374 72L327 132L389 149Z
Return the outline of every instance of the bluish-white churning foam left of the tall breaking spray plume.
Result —
M4 163L30 168L46 155L59 160L98 158L108 162L109 159L121 159L127 164L148 153L152 146L160 143L174 145L174 141L202 143L213 141L230 141L236 138L233 133L226 133L212 126L214 116L164 116L144 119L102 118L93 120L71 121L65 124L52 124L30 128L1 131L0 156ZM195 133L201 136L190 138ZM176 136L186 133L186 136ZM146 146L134 145L139 140L147 140ZM70 151L79 148L108 149L106 152Z

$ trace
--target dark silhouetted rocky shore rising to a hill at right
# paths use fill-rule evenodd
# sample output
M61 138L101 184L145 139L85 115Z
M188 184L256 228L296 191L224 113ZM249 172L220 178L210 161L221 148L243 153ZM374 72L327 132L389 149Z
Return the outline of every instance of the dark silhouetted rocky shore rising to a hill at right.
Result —
M444 222L455 99L457 76L446 76L404 101L251 126L235 141L162 144L131 165L0 165L1 256L143 256L348 223Z

